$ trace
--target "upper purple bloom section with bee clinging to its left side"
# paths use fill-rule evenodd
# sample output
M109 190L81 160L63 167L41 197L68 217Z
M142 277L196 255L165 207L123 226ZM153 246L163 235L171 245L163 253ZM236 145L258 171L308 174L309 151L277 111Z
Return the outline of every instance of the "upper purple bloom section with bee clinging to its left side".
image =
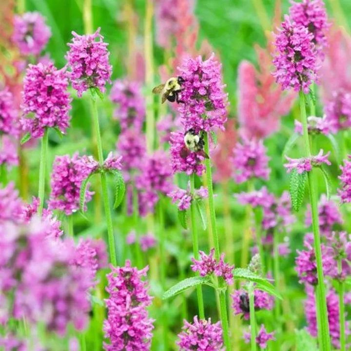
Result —
M205 61L201 56L183 59L178 71L185 80L181 86L183 102L178 104L184 129L194 128L196 133L215 128L223 130L228 95L223 91L222 65L215 60L214 54Z

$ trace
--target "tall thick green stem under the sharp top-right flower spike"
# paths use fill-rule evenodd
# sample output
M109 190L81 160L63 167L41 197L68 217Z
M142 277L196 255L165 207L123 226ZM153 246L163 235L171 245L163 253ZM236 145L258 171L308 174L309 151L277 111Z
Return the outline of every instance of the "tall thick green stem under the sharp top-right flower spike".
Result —
M303 125L303 137L305 142L305 157L311 157L310 141L308 135L307 116L306 116L306 105L305 95L300 91L300 110L301 110L301 122ZM319 220L318 220L318 202L317 202L317 191L316 191L316 180L314 176L314 170L308 172L308 183L310 188L310 200L311 200L311 212L312 212L312 229L313 229L313 240L314 240L314 251L317 263L317 276L318 276L318 299L319 306L316 309L316 313L320 315L320 328L318 328L318 334L320 333L320 340L322 341L321 351L330 351L330 334L329 334L329 323L328 323L328 310L327 300L324 285L323 276L323 264L322 264L322 252L319 234ZM317 297L316 297L317 298ZM318 321L318 318L317 318Z

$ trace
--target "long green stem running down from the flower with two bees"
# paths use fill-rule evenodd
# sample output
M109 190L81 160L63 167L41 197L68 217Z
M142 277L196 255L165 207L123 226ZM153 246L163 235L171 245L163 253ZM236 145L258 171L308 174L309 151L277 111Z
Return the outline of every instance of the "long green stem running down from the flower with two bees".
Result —
M205 133L205 153L210 155L210 145L209 145L209 136L208 133ZM211 169L211 160L209 158L205 159L206 165L206 177L207 177L207 187L209 193L209 207L210 207L210 229L212 232L214 245L215 245L215 258L219 261L220 251L219 251L219 240L217 233L217 223L215 216L215 204L214 204L214 194L213 194L213 182L212 182L212 169ZM231 350L230 338L229 338L229 324L228 324L228 312L227 312L227 298L226 298L226 283L222 277L218 278L219 287L221 288L219 292L219 305L221 311L221 322L223 328L223 340L226 350ZM222 290L223 289L223 290Z

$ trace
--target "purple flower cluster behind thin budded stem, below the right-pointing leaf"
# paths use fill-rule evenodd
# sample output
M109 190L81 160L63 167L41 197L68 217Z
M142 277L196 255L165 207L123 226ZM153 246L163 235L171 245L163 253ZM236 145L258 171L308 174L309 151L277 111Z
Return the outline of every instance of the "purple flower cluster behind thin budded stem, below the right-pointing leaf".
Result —
M250 303L249 294L246 290L235 290L231 295L233 299L232 308L234 314L242 314L248 320L250 318ZM272 310L274 305L274 298L267 292L261 290L254 290L254 309L259 310Z

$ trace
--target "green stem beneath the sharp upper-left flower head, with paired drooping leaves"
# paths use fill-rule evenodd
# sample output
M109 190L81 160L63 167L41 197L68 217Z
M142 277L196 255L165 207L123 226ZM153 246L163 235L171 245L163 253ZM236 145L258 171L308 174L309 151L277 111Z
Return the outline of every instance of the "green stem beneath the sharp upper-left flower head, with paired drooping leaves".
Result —
M98 146L98 160L100 165L103 164L103 154L102 154L102 143L101 143L101 136L100 136L100 127L98 121L98 107L95 98L92 98L92 105L93 105L93 123L95 126L96 131L96 138L97 138L97 146ZM107 192L107 181L106 181L106 174L105 172L100 173L101 178L101 189L102 189L102 198L105 208L105 217L107 223L107 234L108 234L108 242L109 242L109 250L110 250L110 260L114 266L117 266L116 260L116 249L115 249L115 238L113 233L113 226L112 226L112 216L111 216L111 209L108 199L108 192Z

